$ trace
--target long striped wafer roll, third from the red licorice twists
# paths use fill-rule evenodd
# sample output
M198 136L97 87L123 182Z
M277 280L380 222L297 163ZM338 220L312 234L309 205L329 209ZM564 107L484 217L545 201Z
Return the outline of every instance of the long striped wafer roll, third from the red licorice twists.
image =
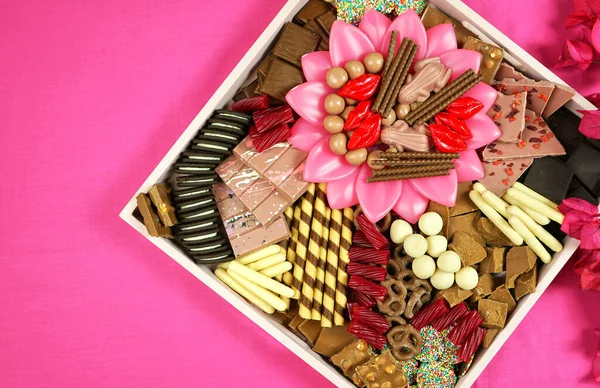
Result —
M315 205L313 219L310 226L310 237L308 239L308 252L306 253L306 264L304 266L304 283L300 294L300 317L312 319L312 305L314 289L317 281L317 266L319 265L319 254L321 253L321 236L323 235L323 222L325 221L325 190L320 189L324 183L319 183L315 191ZM296 258L298 259L298 258ZM321 306L319 306L320 308Z

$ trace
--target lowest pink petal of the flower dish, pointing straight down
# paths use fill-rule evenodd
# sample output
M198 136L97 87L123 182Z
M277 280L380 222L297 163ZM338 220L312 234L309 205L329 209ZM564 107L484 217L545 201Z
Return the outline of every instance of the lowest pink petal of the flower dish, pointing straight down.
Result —
M356 177L358 203L369 221L377 222L392 210L402 194L402 181L367 183L373 170L366 163Z

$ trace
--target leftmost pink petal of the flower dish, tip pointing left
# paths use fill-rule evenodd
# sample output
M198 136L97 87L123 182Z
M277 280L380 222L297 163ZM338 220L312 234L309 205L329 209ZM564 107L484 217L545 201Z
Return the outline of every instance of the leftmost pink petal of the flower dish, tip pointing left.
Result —
M325 82L305 82L290 90L285 99L300 117L311 124L322 125L327 116L325 97L333 92Z

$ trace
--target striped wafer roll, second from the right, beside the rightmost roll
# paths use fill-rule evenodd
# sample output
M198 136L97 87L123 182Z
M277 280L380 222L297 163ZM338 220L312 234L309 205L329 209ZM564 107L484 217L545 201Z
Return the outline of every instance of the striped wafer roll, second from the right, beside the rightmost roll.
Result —
M325 288L323 289L323 308L321 310L321 326L333 326L335 304L335 286L340 254L340 238L342 233L342 211L331 210L329 222L329 242L327 244L327 265L325 266ZM342 312L344 307L342 306Z

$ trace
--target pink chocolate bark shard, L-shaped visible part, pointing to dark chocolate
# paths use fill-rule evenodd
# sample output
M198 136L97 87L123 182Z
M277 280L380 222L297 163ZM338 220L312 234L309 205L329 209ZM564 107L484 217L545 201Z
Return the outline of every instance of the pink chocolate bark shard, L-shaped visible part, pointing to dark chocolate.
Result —
M526 110L525 123L523 140L515 144L491 143L483 151L483 160L541 158L566 153L564 147L540 116Z

